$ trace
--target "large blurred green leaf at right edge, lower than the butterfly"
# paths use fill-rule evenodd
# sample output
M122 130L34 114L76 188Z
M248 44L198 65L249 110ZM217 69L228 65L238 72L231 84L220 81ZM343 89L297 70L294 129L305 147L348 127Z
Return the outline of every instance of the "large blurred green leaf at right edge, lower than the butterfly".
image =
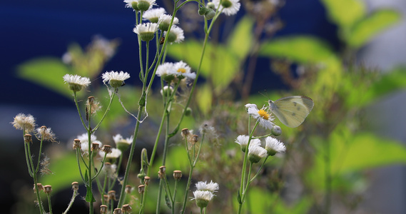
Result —
M325 185L325 143L330 144L330 172L333 180L348 180L351 173L395 163L406 164L406 148L401 143L380 138L373 133L351 133L339 126L328 141L312 139L318 143L313 168L307 173L308 183L320 189ZM323 182L320 182L322 180Z

